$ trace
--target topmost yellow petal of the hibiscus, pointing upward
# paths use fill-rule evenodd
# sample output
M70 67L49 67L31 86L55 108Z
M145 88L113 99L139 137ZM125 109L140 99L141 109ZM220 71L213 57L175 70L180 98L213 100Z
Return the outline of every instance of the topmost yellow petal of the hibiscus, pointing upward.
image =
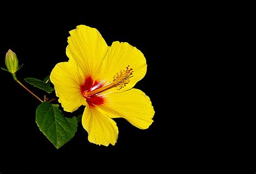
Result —
M95 79L108 50L101 34L97 29L79 25L70 31L68 43L66 55L70 61L75 61L84 74L90 74Z

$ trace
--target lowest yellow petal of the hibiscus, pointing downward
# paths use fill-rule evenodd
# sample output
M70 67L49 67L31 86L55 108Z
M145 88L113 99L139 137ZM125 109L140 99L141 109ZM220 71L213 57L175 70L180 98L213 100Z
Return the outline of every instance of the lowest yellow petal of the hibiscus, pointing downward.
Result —
M106 116L99 107L86 107L82 117L88 140L99 145L114 145L117 142L118 128L116 122Z

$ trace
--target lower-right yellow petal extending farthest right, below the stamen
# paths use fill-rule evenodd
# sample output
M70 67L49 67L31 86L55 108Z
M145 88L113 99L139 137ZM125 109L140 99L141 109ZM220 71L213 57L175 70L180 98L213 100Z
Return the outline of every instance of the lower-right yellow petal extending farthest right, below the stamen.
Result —
M154 109L150 98L139 89L105 94L104 105L98 107L111 118L123 117L140 129L149 128L153 122Z

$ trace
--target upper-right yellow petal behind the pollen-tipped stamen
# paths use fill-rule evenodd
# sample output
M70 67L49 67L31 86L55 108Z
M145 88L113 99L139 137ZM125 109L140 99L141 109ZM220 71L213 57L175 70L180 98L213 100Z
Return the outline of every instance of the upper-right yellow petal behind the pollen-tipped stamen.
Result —
M132 77L130 82L119 91L117 88L108 89L106 92L123 92L127 89L131 89L139 80L141 80L147 70L146 59L142 52L136 47L129 45L128 43L119 43L119 41L113 42L112 46L107 52L106 58L103 61L100 74L97 77L98 81L111 82L113 76L120 71L126 70L126 67L132 68Z

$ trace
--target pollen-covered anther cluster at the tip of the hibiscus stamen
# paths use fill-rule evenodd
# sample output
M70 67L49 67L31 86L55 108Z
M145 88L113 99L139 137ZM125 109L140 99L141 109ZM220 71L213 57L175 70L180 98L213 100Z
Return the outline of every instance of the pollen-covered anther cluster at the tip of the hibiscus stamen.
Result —
M126 66L126 69L120 70L116 75L113 76L113 83L115 83L117 90L125 87L129 82L130 78L133 77L133 71L130 65Z

